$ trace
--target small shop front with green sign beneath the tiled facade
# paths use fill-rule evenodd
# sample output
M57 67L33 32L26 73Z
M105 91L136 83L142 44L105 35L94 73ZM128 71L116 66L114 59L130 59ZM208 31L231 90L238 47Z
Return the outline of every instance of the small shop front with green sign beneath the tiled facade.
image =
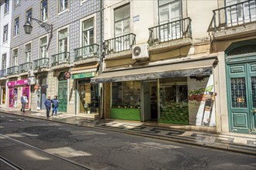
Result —
M76 113L99 114L99 84L90 83L95 71L72 74L77 89Z

